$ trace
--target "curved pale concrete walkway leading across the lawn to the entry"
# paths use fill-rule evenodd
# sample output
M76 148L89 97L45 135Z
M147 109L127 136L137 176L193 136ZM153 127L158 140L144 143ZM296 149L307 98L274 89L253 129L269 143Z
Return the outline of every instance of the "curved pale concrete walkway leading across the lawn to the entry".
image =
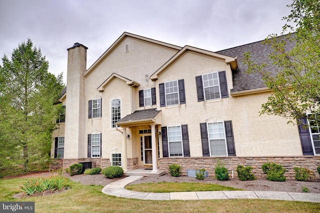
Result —
M215 199L268 199L284 201L302 201L320 203L320 194L262 192L262 191L210 191L210 192L174 192L174 193L143 193L124 189L129 183L143 176L129 176L122 180L106 185L102 193L121 198L140 200L215 200Z

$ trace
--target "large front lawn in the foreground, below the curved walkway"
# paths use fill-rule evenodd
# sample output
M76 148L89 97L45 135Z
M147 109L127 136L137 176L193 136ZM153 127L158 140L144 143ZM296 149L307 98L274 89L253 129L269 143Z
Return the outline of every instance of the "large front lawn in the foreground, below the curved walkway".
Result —
M28 179L0 179L0 201L33 201L35 213L314 213L320 204L269 200L143 201L101 193L102 186L68 181L70 189L46 197L14 199Z

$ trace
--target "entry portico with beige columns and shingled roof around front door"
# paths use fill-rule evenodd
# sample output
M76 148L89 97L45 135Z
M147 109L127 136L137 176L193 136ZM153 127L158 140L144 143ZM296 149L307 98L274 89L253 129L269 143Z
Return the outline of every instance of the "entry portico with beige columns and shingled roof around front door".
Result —
M124 171L127 170L127 142L129 142L132 146L133 144L140 146L140 152L136 153L140 159L138 161L140 162L139 166L149 166L150 162L152 162L152 172L157 172L157 138L159 134L156 129L160 128L160 124L161 111L153 108L137 110L116 122L116 125L122 128L122 169ZM145 128L146 126L148 127L147 129ZM132 131L132 128L137 129L137 131ZM131 137L128 132L131 133Z

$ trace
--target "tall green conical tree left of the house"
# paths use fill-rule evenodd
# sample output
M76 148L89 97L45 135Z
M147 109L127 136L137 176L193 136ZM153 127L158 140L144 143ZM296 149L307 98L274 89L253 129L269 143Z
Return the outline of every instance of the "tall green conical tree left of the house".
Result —
M60 106L62 74L48 72L48 61L30 39L4 55L0 66L0 167L39 166L49 159Z

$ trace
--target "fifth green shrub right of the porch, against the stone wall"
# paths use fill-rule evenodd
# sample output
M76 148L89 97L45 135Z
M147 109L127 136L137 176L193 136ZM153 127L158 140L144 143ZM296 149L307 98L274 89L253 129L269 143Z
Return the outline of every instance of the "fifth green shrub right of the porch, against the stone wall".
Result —
M285 169L282 165L276 163L265 163L262 165L262 172L266 174L266 180L269 181L285 181L283 174Z

